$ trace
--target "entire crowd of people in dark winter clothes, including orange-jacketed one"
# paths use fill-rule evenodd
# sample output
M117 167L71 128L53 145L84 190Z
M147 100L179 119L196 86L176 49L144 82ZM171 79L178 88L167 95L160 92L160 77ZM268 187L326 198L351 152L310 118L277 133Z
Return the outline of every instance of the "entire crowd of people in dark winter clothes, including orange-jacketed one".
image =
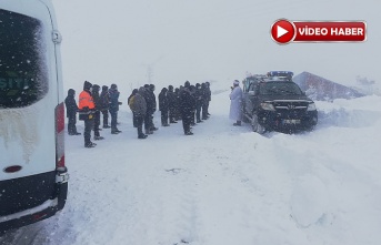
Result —
M158 130L153 123L153 113L157 111L157 96L154 85L146 84L134 89L128 98L128 104L133 114L133 126L138 130L138 139L146 139L153 131ZM76 102L76 91L68 90L64 100L68 118L69 135L81 135L77 131L77 113L79 120L84 121L84 147L94 147L97 144L91 141L91 131L94 132L93 140L103 140L100 135L101 115L103 129L111 127L111 134L121 133L118 130L119 94L117 84L107 85L83 83L83 91L79 94L79 102ZM209 102L211 101L210 83L197 83L191 85L189 81L184 85L174 89L173 85L163 88L158 95L159 111L161 112L161 125L169 126L170 123L182 121L186 135L192 135L191 126L209 118ZM111 125L109 125L111 115ZM144 133L143 133L144 125Z

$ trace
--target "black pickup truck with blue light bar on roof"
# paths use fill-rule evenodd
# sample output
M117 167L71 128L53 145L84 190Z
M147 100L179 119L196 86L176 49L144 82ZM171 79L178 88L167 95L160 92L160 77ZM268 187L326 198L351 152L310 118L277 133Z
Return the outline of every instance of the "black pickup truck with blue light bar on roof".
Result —
M314 102L292 81L293 73L271 71L243 80L243 122L258 133L312 130L318 123Z

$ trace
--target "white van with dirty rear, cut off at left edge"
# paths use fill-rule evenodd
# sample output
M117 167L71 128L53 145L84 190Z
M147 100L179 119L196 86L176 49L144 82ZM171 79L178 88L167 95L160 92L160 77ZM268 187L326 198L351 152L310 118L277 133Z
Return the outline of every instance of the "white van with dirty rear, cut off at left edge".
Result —
M60 42L49 0L0 0L0 233L67 200Z

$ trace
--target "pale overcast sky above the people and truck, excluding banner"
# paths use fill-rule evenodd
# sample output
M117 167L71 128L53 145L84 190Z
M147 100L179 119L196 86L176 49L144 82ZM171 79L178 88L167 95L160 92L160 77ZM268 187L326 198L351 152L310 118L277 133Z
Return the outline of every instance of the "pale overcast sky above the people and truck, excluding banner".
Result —
M84 80L123 89L147 82L215 80L247 72L309 71L342 84L381 81L377 0L53 0L63 35L66 88ZM364 43L279 45L271 24L289 20L365 20Z

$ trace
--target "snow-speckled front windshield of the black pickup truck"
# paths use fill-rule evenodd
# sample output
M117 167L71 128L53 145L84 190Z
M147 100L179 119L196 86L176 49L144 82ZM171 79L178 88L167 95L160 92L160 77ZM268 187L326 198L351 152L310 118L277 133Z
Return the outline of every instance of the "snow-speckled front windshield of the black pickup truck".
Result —
M283 94L294 94L301 95L302 91L298 84L293 82L265 82L261 83L259 88L260 94L265 95L283 95Z

